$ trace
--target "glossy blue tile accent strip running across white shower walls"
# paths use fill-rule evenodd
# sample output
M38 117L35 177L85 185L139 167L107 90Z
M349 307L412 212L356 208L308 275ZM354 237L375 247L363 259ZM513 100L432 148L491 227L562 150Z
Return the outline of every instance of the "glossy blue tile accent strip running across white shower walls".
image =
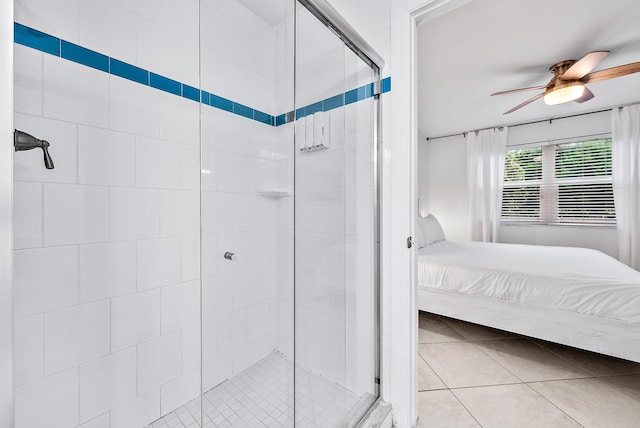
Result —
M291 122L293 114L284 113L272 116L240 103L228 100L215 94L194 88L185 83L178 82L160 74L153 73L135 65L111 58L99 52L76 45L66 40L59 39L49 34L38 31L15 22L13 24L14 42L44 53L81 64L105 73L121 77L142 85L150 86L170 94L174 94L192 101L234 113L248 119L264 123L269 126L281 126ZM374 84L369 83L343 94L338 94L322 101L300 107L295 111L295 118L299 119L318 111L329 111L351 103L355 103L374 96ZM381 92L391 90L391 77L382 79ZM293 112L290 112L293 113Z

